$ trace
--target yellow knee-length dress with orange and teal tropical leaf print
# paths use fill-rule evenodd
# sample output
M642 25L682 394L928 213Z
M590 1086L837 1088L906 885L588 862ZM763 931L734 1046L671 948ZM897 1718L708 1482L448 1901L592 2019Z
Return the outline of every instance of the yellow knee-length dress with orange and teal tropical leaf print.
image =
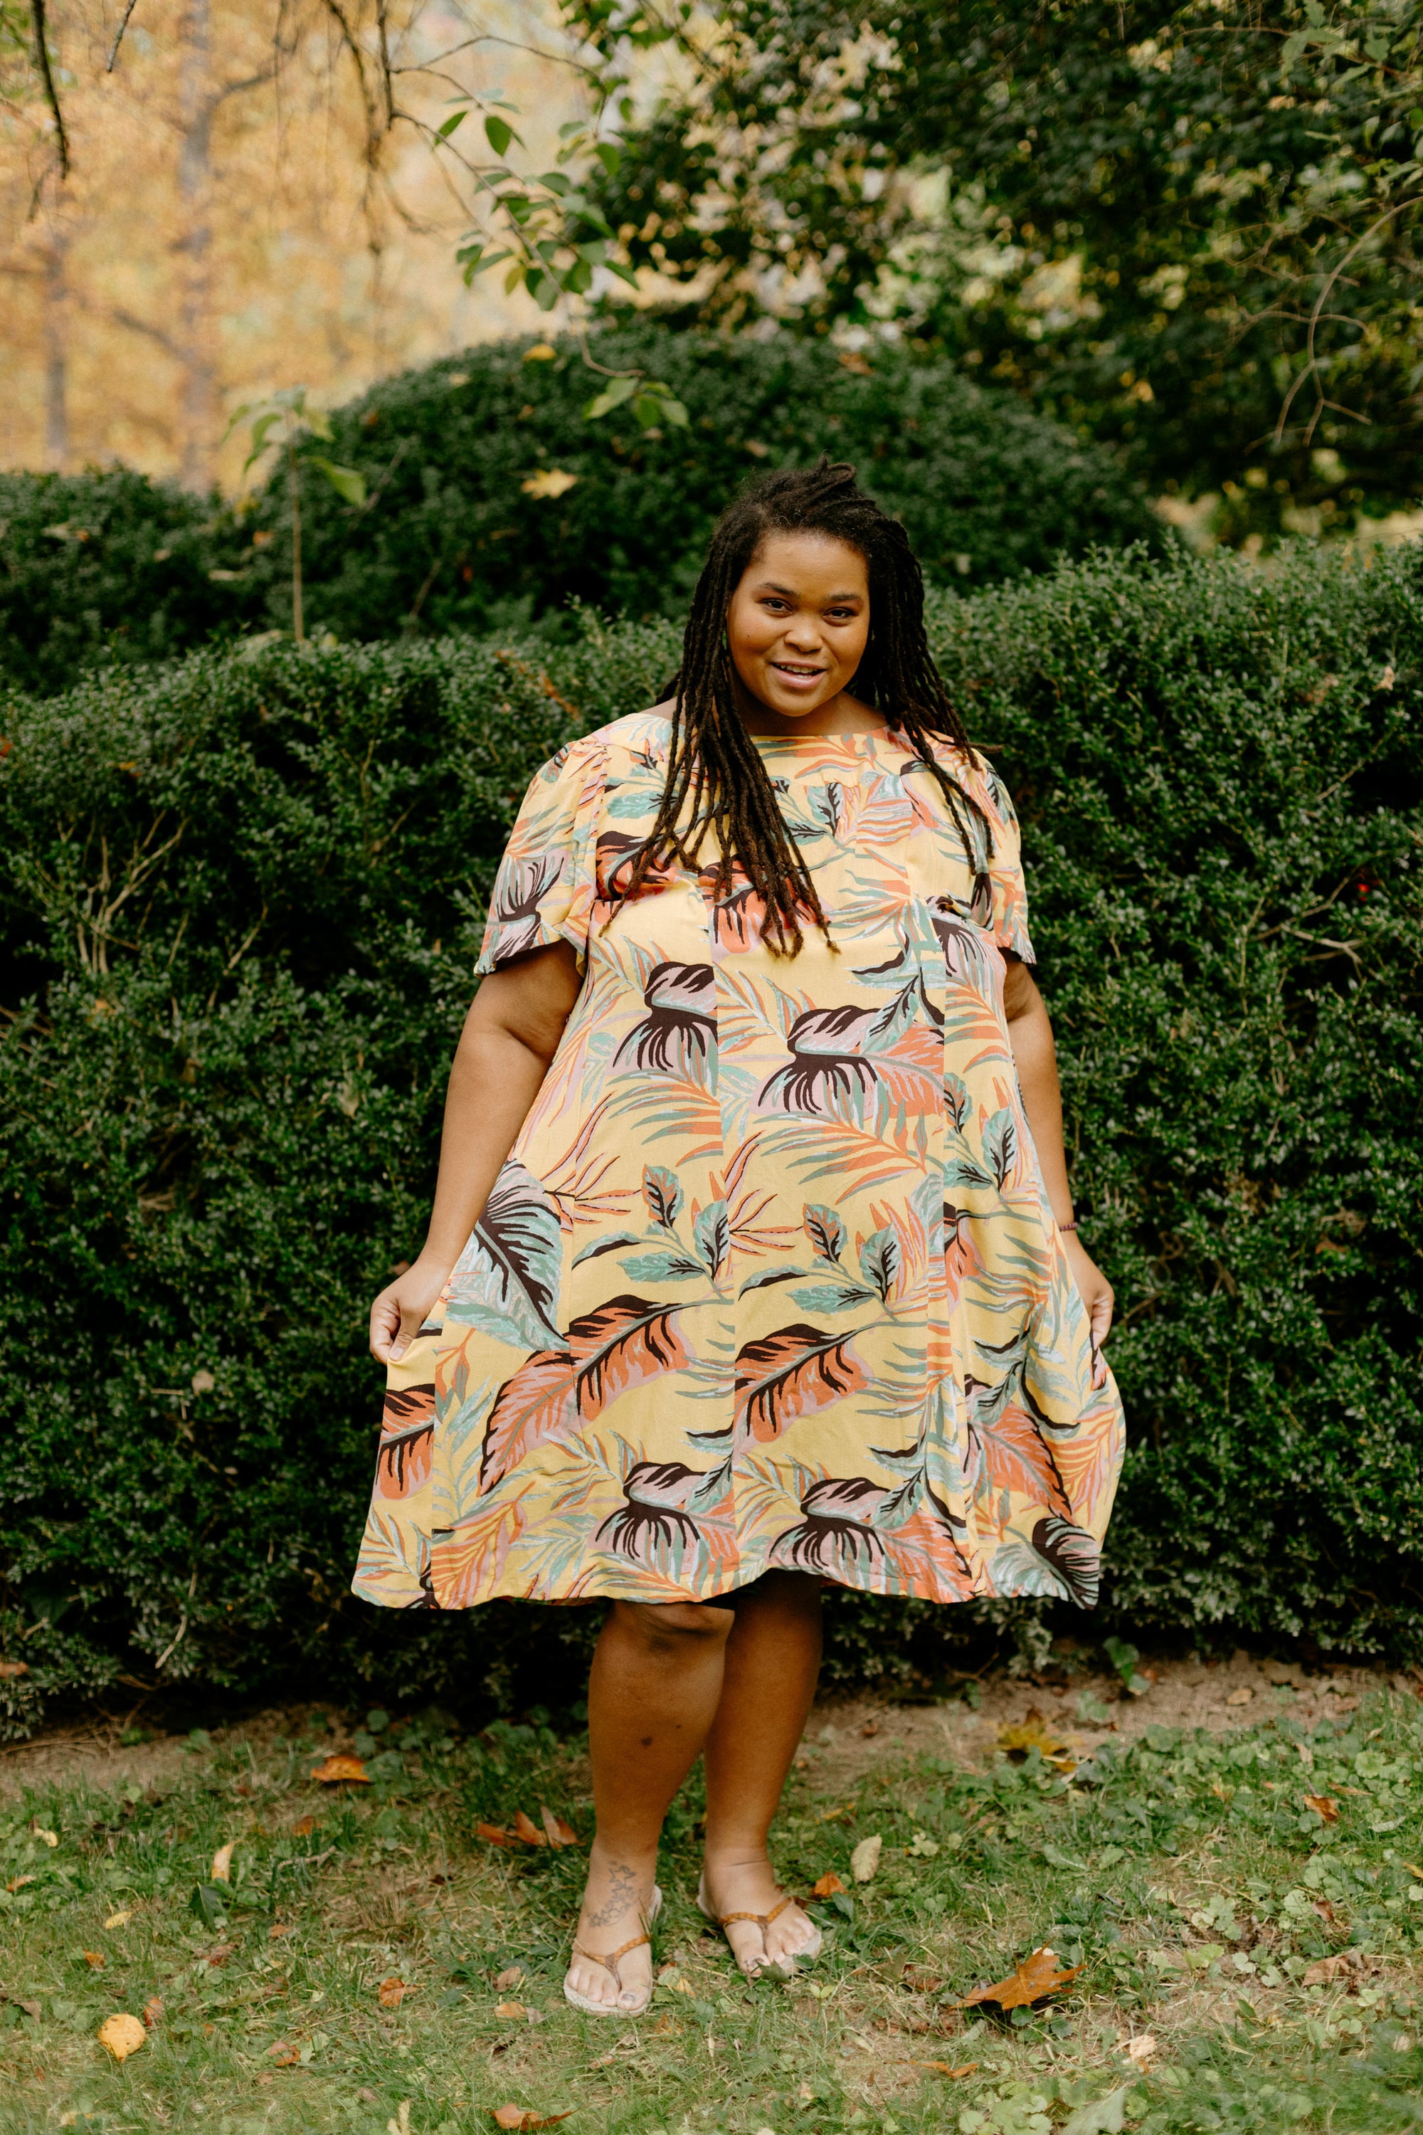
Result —
M354 1591L706 1601L783 1567L1092 1606L1122 1411L1007 1040L1011 801L939 745L973 852L892 730L757 739L830 918L785 959L710 867L619 897L668 741L574 741L514 824L478 969L567 942L582 991L388 1375Z

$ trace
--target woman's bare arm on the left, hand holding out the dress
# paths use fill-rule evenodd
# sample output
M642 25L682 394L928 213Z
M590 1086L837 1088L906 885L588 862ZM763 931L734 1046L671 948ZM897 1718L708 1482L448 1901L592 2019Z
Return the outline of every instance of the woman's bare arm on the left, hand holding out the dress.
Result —
M371 1356L382 1364L399 1364L484 1215L503 1159L559 1050L578 986L578 961L559 942L491 971L476 993L444 1100L429 1236L420 1258L371 1304Z

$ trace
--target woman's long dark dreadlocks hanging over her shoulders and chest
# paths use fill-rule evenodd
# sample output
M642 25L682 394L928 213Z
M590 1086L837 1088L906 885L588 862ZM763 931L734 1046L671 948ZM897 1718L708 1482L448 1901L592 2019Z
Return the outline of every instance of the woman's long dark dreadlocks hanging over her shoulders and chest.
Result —
M966 754L969 734L924 636L924 574L905 527L858 487L856 470L843 463L821 459L817 468L762 476L717 521L691 596L683 664L668 690L676 698L668 781L657 820L627 877L627 895L636 895L655 867L672 860L695 867L702 841L713 831L719 850L715 895L728 895L732 869L740 867L766 907L768 946L777 954L796 956L802 916L826 937L830 927L811 869L777 807L760 749L736 709L725 638L732 594L768 534L826 534L864 557L870 632L853 692L864 705L883 711L934 775L971 854L984 843L992 852L992 826L930 747L930 737L939 737Z

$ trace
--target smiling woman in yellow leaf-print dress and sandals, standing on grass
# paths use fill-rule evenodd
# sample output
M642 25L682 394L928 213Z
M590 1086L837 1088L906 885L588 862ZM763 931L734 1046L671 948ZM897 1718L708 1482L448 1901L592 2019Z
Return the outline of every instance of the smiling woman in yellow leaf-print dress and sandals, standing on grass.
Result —
M356 1593L610 1601L567 1971L636 2015L698 1755L698 1902L819 1932L766 1834L821 1584L1092 1606L1122 1454L1011 803L851 468L721 519L672 696L529 788L450 1074Z

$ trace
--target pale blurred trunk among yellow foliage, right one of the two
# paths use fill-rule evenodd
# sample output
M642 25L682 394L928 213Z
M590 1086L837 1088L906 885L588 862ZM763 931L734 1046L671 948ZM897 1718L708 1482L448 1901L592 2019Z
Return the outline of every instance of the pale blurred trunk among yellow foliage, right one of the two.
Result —
M183 350L181 463L188 489L209 489L218 431L218 378L213 361L213 109L211 0L188 0L179 77L177 192L183 213L179 239L179 346Z

